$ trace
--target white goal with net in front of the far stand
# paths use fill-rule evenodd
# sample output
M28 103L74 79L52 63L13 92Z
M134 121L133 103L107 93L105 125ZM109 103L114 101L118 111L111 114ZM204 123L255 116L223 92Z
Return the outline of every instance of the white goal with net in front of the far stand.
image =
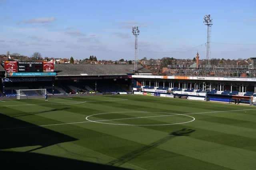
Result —
M17 91L17 99L36 99L44 98L46 89L19 89Z

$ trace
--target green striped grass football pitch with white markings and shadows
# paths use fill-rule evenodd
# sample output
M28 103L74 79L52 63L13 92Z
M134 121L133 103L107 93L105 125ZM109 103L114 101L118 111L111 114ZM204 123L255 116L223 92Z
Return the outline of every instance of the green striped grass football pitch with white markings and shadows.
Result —
M1 164L255 170L256 107L140 95L0 101Z

